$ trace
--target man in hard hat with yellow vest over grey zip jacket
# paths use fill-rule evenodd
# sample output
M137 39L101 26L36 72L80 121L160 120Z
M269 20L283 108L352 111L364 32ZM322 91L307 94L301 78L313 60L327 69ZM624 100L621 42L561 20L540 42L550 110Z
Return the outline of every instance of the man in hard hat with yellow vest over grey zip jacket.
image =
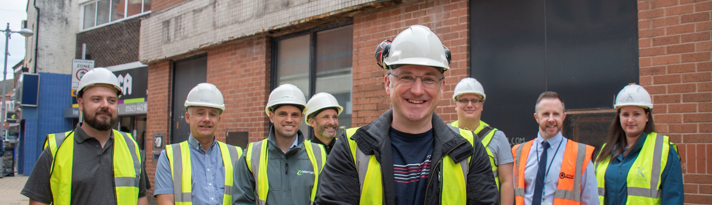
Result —
M326 151L299 130L307 112L304 93L279 85L265 112L273 125L267 139L248 144L237 162L233 204L313 204Z

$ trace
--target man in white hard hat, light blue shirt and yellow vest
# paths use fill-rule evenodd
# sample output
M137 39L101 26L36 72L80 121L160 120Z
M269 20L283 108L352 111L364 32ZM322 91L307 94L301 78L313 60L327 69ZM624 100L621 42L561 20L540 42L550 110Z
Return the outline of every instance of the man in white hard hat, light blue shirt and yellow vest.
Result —
M223 95L215 85L200 83L190 90L184 106L190 136L161 151L153 196L158 204L232 203L233 168L242 149L215 139L225 110Z

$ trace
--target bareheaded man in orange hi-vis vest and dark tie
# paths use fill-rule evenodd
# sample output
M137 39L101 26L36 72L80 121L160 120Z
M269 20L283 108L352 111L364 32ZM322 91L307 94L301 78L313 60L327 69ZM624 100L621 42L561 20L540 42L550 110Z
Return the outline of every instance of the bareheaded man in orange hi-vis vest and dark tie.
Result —
M559 94L539 95L536 139L512 147L517 205L599 204L593 147L561 135L566 117Z

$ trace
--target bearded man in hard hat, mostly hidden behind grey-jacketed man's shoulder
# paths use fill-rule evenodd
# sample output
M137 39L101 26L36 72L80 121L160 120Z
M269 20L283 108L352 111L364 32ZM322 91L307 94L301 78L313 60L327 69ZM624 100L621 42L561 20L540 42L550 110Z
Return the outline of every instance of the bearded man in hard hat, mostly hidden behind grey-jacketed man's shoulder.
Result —
M331 148L336 144L335 137L339 133L339 115L344 107L329 93L316 93L307 102L307 114L304 120L307 125L314 129L314 136L311 142L322 144L326 149L326 154L331 152Z

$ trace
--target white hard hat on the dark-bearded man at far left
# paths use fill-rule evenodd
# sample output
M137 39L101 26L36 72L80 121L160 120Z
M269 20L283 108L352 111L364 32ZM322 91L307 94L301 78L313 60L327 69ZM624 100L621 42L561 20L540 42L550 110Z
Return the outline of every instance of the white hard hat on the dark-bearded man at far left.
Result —
M82 79L79 80L77 98L81 98L85 89L98 85L114 88L114 90L116 90L116 94L119 95L119 98L121 98L121 94L123 94L121 86L119 85L119 79L116 78L116 75L114 75L114 73L109 69L98 67L89 70L84 74L84 76L82 76Z

